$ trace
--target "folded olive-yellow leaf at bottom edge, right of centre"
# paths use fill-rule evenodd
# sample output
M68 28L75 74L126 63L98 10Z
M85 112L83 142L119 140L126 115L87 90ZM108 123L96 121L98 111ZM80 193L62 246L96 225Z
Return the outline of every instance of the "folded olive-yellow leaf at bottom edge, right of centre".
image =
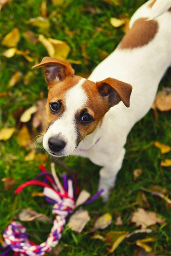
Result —
M112 253L127 235L128 232L126 231L110 231L107 233L105 242L110 245L110 247L107 247L107 250Z

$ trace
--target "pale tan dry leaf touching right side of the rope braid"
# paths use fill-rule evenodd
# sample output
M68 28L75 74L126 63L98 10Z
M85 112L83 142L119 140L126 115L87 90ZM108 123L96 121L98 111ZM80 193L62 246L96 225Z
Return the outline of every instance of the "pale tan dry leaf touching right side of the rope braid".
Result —
M81 233L88 221L90 221L90 216L87 210L79 209L72 214L67 226L71 227L71 230Z

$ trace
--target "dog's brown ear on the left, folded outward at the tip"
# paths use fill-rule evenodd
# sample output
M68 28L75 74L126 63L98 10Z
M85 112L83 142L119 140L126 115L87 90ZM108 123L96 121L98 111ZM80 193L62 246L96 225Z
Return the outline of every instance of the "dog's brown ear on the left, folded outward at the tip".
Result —
M56 58L44 57L41 63L33 66L32 69L38 67L43 67L48 88L52 87L54 82L58 83L59 81L63 81L67 76L74 75L74 70L68 61L62 61Z

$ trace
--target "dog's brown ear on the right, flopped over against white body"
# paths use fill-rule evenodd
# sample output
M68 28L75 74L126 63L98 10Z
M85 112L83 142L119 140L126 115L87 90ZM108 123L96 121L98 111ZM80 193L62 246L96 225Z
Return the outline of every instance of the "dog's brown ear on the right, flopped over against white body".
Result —
M130 106L130 94L132 92L130 84L113 78L107 78L96 82L96 86L101 96L108 99L110 107L118 104L121 100L127 108Z

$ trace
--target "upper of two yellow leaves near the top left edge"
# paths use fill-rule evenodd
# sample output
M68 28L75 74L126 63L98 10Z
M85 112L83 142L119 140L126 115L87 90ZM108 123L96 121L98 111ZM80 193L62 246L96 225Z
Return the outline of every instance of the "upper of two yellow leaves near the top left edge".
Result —
M20 32L17 28L12 29L2 41L2 44L8 47L16 47L20 41Z

